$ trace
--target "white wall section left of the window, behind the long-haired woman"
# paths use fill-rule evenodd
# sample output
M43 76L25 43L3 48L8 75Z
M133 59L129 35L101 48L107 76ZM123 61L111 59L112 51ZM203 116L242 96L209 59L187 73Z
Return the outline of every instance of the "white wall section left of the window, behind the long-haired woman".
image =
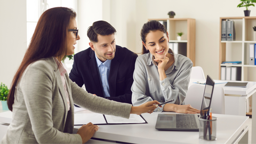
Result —
M0 0L0 83L8 87L27 50L26 0Z

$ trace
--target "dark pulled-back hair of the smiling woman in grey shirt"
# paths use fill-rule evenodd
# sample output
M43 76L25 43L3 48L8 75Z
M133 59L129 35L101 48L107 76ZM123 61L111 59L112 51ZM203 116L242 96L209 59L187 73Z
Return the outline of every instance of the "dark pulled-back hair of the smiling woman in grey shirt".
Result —
M144 23L144 25L141 28L141 31L140 31L141 41L146 44L146 37L148 33L150 31L155 31L155 30L163 31L167 35L165 27L159 21L151 20L151 21L148 21L147 23ZM145 54L145 53L149 53L149 51L147 51L146 47L142 44L141 54Z

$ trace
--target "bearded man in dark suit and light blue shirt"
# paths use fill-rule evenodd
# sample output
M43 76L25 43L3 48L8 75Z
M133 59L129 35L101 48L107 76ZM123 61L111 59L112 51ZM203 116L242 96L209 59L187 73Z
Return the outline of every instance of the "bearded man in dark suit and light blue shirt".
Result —
M93 22L87 30L90 47L74 55L69 78L99 97L132 103L131 86L138 55L116 45L115 33L108 22Z

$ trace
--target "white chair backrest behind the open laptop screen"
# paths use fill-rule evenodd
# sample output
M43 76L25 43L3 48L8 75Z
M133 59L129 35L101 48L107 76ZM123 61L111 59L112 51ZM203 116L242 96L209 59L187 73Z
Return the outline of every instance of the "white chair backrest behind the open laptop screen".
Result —
M188 87L185 104L191 105L193 108L201 109L204 94L204 84L193 84ZM203 103L206 105L206 103ZM214 86L211 108L213 114L225 114L225 96L221 86Z

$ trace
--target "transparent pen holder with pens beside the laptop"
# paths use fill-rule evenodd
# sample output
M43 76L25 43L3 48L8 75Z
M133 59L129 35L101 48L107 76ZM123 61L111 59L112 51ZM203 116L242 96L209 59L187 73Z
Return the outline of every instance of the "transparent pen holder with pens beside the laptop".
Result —
M217 117L212 119L204 119L199 117L199 139L201 140L216 140L216 125Z

